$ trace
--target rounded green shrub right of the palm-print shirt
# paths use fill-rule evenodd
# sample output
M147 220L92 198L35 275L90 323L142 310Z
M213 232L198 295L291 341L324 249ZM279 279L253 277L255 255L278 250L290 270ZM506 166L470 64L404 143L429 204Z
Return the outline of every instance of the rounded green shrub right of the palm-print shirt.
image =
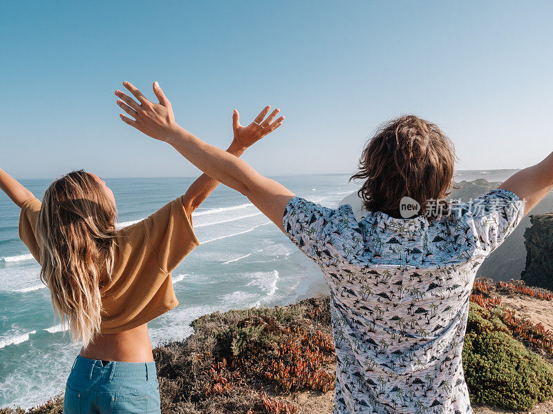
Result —
M553 396L553 366L509 335L501 308L470 305L462 353L474 404L529 410Z

